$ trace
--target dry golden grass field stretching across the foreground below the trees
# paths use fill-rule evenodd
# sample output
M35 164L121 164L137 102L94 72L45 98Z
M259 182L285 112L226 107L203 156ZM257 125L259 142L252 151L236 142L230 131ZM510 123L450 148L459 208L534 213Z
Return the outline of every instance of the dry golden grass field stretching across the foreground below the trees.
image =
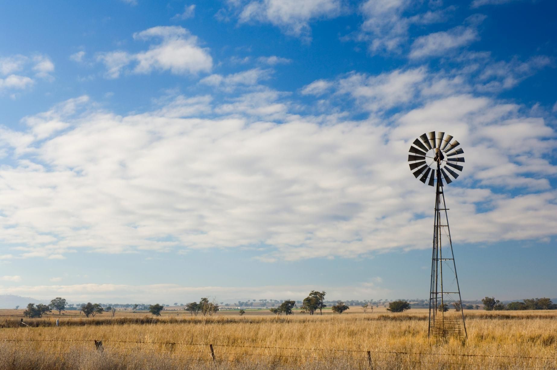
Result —
M421 309L289 317L223 311L206 318L164 311L157 319L121 311L115 318L63 315L60 327L53 325L57 315L21 327L21 313L0 311L1 369L557 368L555 311L466 310L466 342L438 343L428 340Z

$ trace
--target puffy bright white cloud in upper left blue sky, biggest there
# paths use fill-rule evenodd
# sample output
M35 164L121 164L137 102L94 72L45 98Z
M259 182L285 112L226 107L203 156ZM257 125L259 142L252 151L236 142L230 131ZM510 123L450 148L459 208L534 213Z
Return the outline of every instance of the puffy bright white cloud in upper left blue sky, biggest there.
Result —
M100 53L97 61L106 66L105 76L118 78L130 64L135 64L131 72L147 74L154 70L170 71L176 75L197 74L209 72L213 60L207 48L199 47L198 38L188 30L179 26L159 26L134 33L135 40L150 40L160 38L159 44L151 45L149 50L128 53L113 51Z

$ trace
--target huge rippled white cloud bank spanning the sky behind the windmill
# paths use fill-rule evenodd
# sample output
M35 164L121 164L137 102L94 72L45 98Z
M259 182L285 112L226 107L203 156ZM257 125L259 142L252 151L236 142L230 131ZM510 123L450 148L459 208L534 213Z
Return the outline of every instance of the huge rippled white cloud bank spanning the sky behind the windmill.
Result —
M433 193L405 160L409 143L432 129L466 153L463 176L446 191L459 217L455 240L555 235L555 130L517 105L442 95L432 87L439 81L424 67L339 77L331 96L351 96L370 113L363 120L338 108L296 115L299 103L261 86L224 102L174 96L123 116L86 97L66 101L23 119L21 132L2 128L13 150L0 168L0 242L19 246L13 258L45 259L257 247L272 261L425 248ZM383 118L389 108L397 114ZM509 190L519 188L520 196Z

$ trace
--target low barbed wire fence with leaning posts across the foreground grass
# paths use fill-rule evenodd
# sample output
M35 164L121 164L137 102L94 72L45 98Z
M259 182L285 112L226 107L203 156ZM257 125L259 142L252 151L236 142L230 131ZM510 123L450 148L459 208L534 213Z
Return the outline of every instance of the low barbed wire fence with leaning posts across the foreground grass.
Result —
M116 339L0 339L0 344L12 345L20 350L32 350L29 345L40 344L37 352L62 355L71 349L90 349L96 353L110 352L118 356L132 353L167 353L180 361L238 362L253 357L291 359L299 361L353 361L370 369L381 368L380 363L392 362L401 367L411 364L432 364L462 368L487 368L486 361L497 359L514 368L557 369L557 357L512 356L504 354L407 352L396 350L365 350L346 348L270 347L251 344L148 342ZM153 348L157 346L157 348ZM26 348L27 347L27 348ZM250 349L242 352L240 348ZM284 353L284 352L287 353Z

